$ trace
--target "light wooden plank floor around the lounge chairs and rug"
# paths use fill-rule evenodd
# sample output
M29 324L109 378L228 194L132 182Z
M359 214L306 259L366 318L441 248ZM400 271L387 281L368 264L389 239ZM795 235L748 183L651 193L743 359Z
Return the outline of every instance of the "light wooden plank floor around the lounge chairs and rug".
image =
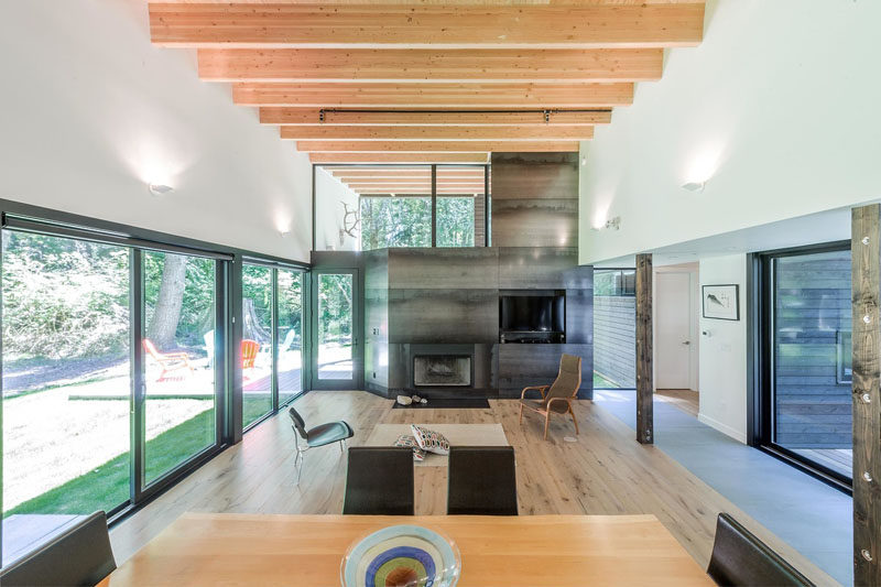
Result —
M502 424L516 450L520 514L652 513L701 566L709 561L716 515L727 511L790 559L818 585L836 583L759 525L744 512L653 446L635 442L633 431L590 401L572 421L552 420L548 441L542 421L524 414L518 402L491 400L483 410L392 410L391 400L359 391L311 392L296 401L307 424L346 420L356 431L351 445L363 444L376 424ZM345 456L336 446L309 450L303 481L294 486L293 439L282 413L246 434L164 496L118 524L111 532L118 562L131 556L185 511L251 513L339 513ZM416 513L440 514L446 507L446 467L417 467Z

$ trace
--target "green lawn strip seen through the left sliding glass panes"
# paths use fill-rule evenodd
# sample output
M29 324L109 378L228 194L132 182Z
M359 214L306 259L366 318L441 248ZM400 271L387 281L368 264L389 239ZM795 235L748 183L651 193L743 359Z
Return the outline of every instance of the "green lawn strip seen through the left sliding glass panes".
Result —
M167 430L146 443L144 474L153 480L214 443L214 410ZM3 512L88 514L110 510L129 499L129 454Z

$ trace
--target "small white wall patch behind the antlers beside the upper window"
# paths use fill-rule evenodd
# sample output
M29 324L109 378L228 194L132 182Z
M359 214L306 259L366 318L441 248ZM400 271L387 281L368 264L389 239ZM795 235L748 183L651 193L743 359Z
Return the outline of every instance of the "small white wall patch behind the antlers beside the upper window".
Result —
M342 182L324 171L315 170L315 249L319 251L358 251L361 249L359 237L348 235L340 242L339 231L342 229L345 207L359 209L358 194L346 187Z

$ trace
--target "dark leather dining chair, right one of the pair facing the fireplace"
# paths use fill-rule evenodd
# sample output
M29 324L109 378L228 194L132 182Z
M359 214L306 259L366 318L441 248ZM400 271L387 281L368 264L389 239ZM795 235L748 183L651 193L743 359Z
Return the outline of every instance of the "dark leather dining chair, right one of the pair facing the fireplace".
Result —
M450 446L447 514L516 515L511 446Z

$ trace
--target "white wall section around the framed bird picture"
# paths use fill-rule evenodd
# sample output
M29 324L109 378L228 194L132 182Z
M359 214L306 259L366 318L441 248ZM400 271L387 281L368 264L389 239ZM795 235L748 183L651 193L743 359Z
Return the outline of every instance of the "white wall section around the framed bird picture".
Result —
M704 318L698 307L701 314L698 420L746 443L747 256L703 259L698 274L701 286L732 283L740 286L739 320Z

